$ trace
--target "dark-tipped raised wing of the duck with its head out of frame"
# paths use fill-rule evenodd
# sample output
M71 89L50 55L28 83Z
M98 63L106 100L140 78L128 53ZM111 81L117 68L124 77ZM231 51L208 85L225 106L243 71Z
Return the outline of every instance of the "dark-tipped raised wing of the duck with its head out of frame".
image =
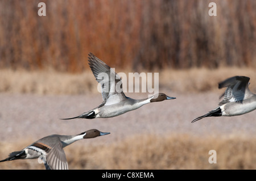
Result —
M223 82L218 84L218 89L223 87L227 87L224 94L220 96L223 97L223 100L219 103L219 105L223 105L228 102L237 102L242 103L242 101L249 96L252 95L250 92L249 85L249 77L244 76L236 76L226 79Z

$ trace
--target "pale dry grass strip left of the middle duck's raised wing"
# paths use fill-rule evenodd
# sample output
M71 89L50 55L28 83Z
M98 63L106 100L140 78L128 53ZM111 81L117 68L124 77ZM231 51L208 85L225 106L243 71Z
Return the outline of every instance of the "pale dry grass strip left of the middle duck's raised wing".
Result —
M85 94L92 92L97 82L91 72L81 74L57 71L24 71L4 69L0 71L0 91L32 94ZM92 86L93 84L93 86Z

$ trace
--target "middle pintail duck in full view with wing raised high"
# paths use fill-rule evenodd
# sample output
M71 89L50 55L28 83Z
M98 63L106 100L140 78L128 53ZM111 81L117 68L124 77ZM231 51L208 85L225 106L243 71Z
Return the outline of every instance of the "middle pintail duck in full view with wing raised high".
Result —
M122 91L121 77L119 77L119 75L115 73L113 69L110 69L108 65L94 56L92 53L89 53L88 58L90 69L92 70L96 81L101 85L101 95L104 101L100 104L100 106L94 108L93 110L84 112L80 116L65 118L63 120L75 118L94 119L98 117L114 117L128 111L136 110L147 103L176 99L163 93L155 94L146 99L137 100L128 98ZM104 75L108 75L107 80L101 79ZM119 90L117 90L117 87L119 87Z

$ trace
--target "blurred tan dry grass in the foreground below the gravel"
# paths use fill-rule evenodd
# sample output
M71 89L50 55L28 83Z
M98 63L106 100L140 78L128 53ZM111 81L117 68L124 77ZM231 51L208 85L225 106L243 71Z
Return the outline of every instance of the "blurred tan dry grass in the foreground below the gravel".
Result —
M256 169L256 140L249 137L196 137L135 135L120 142L86 145L76 142L65 148L69 169ZM2 142L0 155L30 142ZM15 145L15 146L14 146ZM217 151L210 164L209 150ZM44 169L36 160L4 162L0 169Z

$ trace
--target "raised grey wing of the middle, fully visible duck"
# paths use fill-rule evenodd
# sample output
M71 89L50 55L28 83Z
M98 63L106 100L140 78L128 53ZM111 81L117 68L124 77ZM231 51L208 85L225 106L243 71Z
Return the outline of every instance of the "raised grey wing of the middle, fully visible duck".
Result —
M92 53L89 53L88 61L96 81L101 85L102 99L107 102L110 97L114 96L115 101L113 102L113 99L109 104L125 99L121 77Z

